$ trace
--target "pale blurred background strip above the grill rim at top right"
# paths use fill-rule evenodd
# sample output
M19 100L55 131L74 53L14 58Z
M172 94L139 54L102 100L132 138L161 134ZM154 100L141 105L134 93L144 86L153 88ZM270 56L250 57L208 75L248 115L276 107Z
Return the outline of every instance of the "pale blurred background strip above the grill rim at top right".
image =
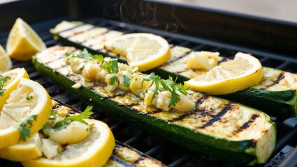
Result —
M155 0L166 1L166 0ZM168 1L168 0L167 0ZM297 23L296 0L169 0L190 6L212 8L234 13L242 13L270 19L279 19Z

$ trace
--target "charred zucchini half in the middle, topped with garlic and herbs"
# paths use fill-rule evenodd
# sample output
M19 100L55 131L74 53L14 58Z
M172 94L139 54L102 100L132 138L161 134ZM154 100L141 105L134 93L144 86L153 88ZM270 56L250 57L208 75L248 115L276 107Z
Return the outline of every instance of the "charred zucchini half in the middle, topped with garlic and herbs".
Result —
M36 54L34 67L55 84L125 122L183 145L190 150L235 164L262 164L275 148L276 129L265 113L218 97L189 90L193 111L179 113L145 106L132 93L113 91L85 81L66 64L74 47L50 47ZM80 84L80 88L72 88Z

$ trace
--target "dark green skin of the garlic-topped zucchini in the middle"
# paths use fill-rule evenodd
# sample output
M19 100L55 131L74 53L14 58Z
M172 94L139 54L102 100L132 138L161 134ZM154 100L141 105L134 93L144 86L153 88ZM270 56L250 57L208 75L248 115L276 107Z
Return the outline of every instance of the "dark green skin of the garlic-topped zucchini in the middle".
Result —
M134 108L133 105L119 104L119 102L115 101L115 98L106 97L94 88L89 88L87 86L81 86L78 89L71 88L71 86L76 84L75 81L69 79L66 75L60 74L57 70L48 67L44 63L39 62L36 57L37 56L33 58L34 67L43 77L50 79L55 84L62 86L69 92L80 97L80 99L86 100L87 103L98 107L101 111L104 111L111 116L121 118L130 125L150 132L160 138L164 138L167 141L182 145L190 150L206 154L215 159L229 161L234 164L253 165L264 163L275 147L275 124L265 115L265 113L261 113L261 111L255 111L254 109L248 109L246 106L233 104L253 112L255 111L259 117L265 118L265 122L261 122L261 125L267 125L268 127L261 132L263 133L263 136L258 141L255 141L254 139L231 141L226 138L214 137L198 132L195 129L178 125L175 122L170 122L164 118L158 118L153 114L139 111ZM53 63L55 63L55 61L53 61ZM219 100L219 98L216 97L212 98ZM226 102L226 100L224 100L224 102ZM242 128L240 130L245 131L246 129ZM262 138L263 140L261 140ZM265 144L261 145L263 142ZM264 145L268 145L268 148L265 150L270 151L265 153L265 155L256 153L261 152L261 147ZM263 156L265 158L263 158Z

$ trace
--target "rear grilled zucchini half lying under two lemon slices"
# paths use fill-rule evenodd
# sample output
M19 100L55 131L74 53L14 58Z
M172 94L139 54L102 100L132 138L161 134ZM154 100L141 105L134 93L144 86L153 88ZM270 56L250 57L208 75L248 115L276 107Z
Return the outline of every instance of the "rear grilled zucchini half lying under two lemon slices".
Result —
M58 24L51 32L61 42L80 49L87 48L92 54L116 57L122 62L126 62L124 57L110 53L103 47L106 40L124 34L122 32L81 22L78 24L65 21ZM162 78L178 77L177 81L180 83L205 73L205 70L189 70L187 68L187 56L191 51L189 48L171 45L171 58L153 71ZM223 57L219 57L219 59L219 63L227 61ZM256 86L221 97L252 106L270 116L280 118L297 116L297 74L269 67L263 67L263 71L263 80Z

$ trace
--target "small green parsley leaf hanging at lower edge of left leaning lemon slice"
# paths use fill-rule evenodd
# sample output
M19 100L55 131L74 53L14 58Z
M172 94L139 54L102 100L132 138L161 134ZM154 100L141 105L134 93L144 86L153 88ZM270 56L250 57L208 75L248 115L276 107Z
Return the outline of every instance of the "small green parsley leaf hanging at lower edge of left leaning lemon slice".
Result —
M20 127L18 128L20 132L19 141L26 141L26 137L31 136L30 129L32 127L32 122L37 119L37 116L38 115L30 116L20 124Z

